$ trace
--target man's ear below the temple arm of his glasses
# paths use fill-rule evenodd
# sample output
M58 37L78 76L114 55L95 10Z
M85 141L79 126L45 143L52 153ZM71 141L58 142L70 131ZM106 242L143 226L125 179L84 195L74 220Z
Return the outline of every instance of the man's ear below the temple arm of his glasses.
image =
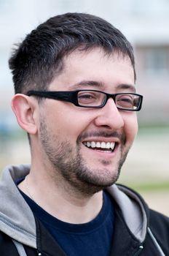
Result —
M34 99L25 94L15 94L12 98L12 110L20 127L29 134L34 135L37 132L35 118L36 103Z

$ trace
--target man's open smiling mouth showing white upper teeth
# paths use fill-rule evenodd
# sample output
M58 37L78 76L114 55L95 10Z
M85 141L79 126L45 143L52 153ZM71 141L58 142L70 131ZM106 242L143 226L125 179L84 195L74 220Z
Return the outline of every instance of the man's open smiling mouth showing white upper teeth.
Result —
M98 150L98 151L106 151L106 152L113 152L114 148L117 143L114 142L104 142L104 141L84 141L83 145L86 146L87 148L91 148L93 150Z

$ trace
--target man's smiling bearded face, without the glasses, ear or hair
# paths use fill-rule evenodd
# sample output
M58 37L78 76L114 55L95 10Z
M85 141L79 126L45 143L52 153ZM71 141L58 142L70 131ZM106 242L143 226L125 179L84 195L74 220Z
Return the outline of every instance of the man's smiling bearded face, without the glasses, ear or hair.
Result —
M93 89L109 94L134 91L130 59L100 48L76 50L64 59L63 71L50 91ZM119 170L138 129L135 112L117 110L113 99L103 108L79 108L70 102L45 99L39 138L43 161L84 193L94 193L117 181ZM106 148L105 148L106 147Z

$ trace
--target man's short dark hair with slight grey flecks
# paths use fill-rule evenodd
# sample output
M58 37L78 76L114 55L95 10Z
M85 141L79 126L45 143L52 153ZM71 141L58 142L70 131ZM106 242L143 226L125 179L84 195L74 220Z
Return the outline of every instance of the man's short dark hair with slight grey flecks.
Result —
M103 48L130 58L135 74L133 48L125 36L102 18L85 13L66 13L50 18L17 45L9 59L15 93L46 90L63 69L63 57L80 48Z

